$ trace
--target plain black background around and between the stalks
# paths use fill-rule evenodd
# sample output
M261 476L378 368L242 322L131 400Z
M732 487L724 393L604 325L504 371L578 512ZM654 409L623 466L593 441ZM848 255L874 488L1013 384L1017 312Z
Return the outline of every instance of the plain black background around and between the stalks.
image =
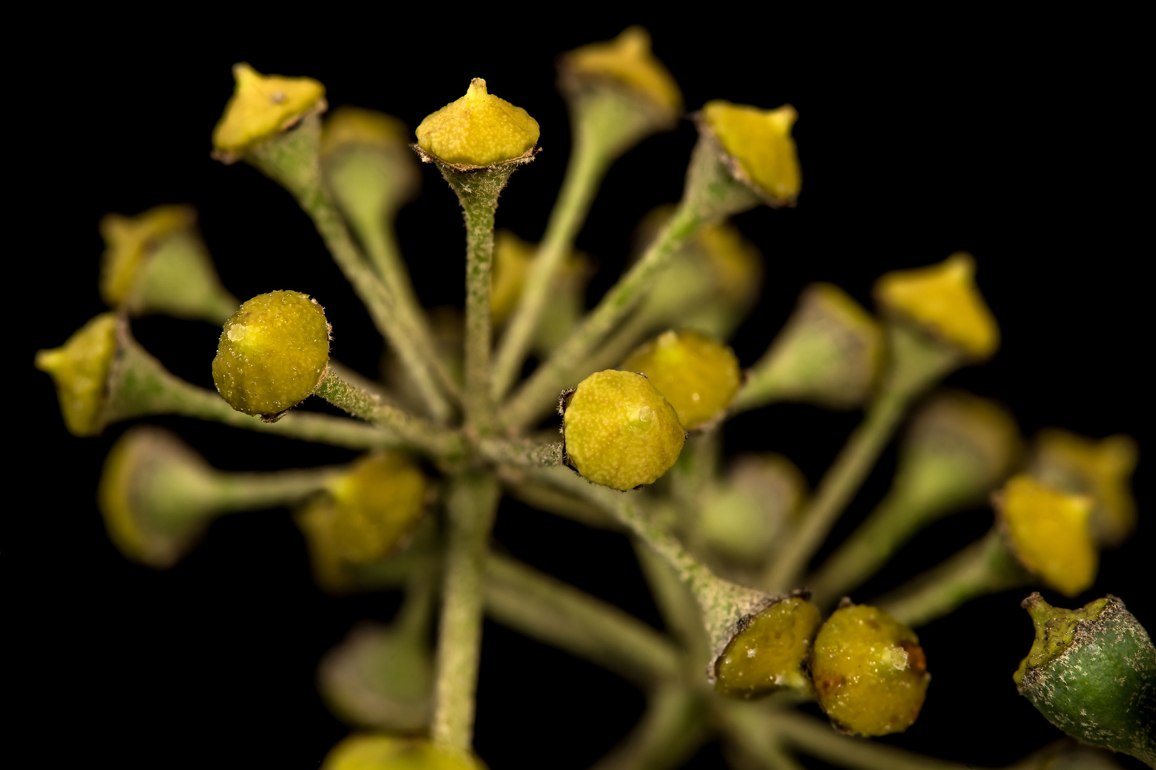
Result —
M13 60L21 109L8 118L16 173L9 184L17 185L8 259L24 274L17 293L25 307L9 387L18 421L8 444L17 465L0 561L12 683L3 756L32 748L53 767L111 758L121 768L314 768L346 733L314 693L318 657L353 622L387 620L398 604L393 595L332 599L317 591L284 510L220 521L168 573L125 561L94 502L102 458L125 426L97 439L69 436L49 377L30 367L37 347L60 344L103 309L101 215L191 202L234 293L314 294L334 324L334 356L375 373L381 343L305 216L252 169L208 157L235 61L314 76L331 105L384 110L410 126L460 96L470 77L486 77L491 92L541 125L543 151L513 177L498 210L499 226L536 239L569 145L553 57L644 23L688 109L711 98L790 102L801 115L799 207L738 217L768 260L762 302L734 341L744 365L806 283L832 281L868 304L881 272L968 249L1003 345L988 365L949 382L1009 404L1027 435L1060 425L1094 436L1128 433L1142 450L1150 446L1142 374L1150 294L1140 266L1151 245L1150 229L1140 227L1143 199L1133 190L1150 164L1139 141L1139 57L1117 37L1122 27L1081 20L1045 30L961 15L934 23L840 20L851 25L836 33L796 29L787 18L490 18L484 29L449 31L453 18L420 14L221 18L213 27L172 17L147 29L139 18L105 16L76 20L77 29L43 39L42 55ZM692 142L683 124L610 171L578 238L601 263L592 300L621 270L639 217L677 199ZM401 214L402 247L422 300L460 305L457 204L430 167L424 182L421 200ZM173 372L212 387L217 330L148 319L134 331ZM727 449L784 451L815 483L857 419L775 406L729 425ZM149 421L179 429L223 469L350 457L215 425ZM1117 593L1153 628L1148 468L1142 455L1138 536L1104 555L1095 588L1079 603ZM882 494L892 469L894 450L837 537ZM976 510L933 526L859 598L934 565L990 523L990 511ZM661 626L623 538L509 501L495 538ZM1032 635L1018 607L1025 593L975 601L921 629L934 681L919 722L888 742L1003 764L1058 735L1010 681ZM487 623L476 746L495 770L583 768L625 733L643 704L615 676ZM719 747L705 747L687 767L722 767Z

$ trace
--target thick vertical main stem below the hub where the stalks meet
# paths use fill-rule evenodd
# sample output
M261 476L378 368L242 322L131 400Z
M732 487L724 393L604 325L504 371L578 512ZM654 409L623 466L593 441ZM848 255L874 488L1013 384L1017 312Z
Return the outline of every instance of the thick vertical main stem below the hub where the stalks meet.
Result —
M437 682L430 737L468 750L482 645L482 575L498 487L492 476L459 476L446 501L445 576L438 626Z

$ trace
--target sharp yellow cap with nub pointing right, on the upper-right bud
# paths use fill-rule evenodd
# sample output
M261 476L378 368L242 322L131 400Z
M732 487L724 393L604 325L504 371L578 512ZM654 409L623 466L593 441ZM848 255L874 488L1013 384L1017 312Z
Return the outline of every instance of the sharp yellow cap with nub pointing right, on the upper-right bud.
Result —
M802 171L791 127L799 113L790 104L759 110L721 99L703 106L702 120L729 156L731 172L773 207L794 205Z

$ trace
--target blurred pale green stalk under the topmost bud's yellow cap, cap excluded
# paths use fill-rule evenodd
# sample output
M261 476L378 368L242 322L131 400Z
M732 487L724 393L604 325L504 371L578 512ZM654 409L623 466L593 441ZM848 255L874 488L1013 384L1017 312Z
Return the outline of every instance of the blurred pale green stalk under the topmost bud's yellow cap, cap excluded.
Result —
M621 152L620 134L637 112L625 110L614 95L586 99L571 113L573 150L566 164L562 189L550 211L546 234L538 247L521 297L506 326L494 362L490 396L495 402L513 384L534 338L558 270L573 249L575 238L590 212L591 201L602 184L607 169ZM622 118L627 118L623 121ZM615 120L618 119L618 120ZM629 130L629 128L628 128Z

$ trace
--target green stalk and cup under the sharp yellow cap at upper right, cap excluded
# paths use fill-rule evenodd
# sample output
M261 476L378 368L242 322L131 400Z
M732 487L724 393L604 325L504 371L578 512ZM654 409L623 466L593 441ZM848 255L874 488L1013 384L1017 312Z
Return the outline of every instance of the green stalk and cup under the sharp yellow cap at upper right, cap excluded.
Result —
M654 285L674 253L698 229L758 203L753 192L735 181L716 148L701 139L687 172L682 202L633 267L586 314L573 334L527 379L498 414L507 431L525 428L543 405L551 404L569 384L570 373L598 347Z

